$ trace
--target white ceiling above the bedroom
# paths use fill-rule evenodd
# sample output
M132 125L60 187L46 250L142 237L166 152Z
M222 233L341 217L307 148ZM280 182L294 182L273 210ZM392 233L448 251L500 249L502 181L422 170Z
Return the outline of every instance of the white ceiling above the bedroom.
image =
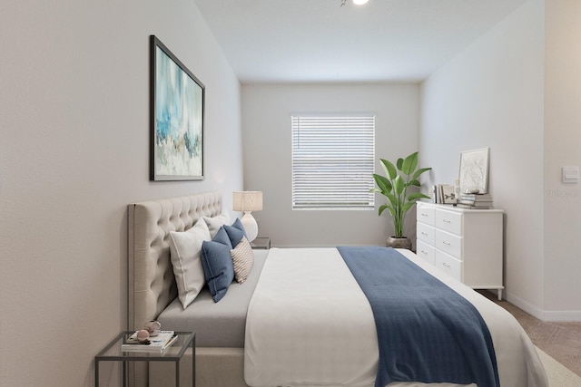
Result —
M242 83L419 82L526 0L195 0Z

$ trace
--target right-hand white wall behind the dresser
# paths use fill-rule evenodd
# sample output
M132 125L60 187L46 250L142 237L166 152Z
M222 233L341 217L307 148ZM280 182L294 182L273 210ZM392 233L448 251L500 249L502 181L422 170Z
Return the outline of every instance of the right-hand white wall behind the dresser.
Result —
M423 82L419 146L438 183L457 179L460 151L490 148L489 190L506 211L507 298L541 318L544 58L544 1L529 0Z

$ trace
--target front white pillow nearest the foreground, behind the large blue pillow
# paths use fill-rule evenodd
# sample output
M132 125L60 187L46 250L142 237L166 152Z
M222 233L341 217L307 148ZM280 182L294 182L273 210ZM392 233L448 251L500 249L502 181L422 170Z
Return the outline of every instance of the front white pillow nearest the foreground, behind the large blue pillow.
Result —
M204 240L212 240L212 237L206 222L202 219L187 231L170 232L173 275L183 309L192 304L206 283L201 258Z

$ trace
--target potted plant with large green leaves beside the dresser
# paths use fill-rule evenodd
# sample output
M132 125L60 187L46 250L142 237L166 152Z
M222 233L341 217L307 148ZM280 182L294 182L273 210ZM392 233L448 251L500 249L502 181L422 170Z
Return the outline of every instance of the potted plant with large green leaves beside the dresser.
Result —
M389 237L386 241L388 247L402 247L411 249L411 240L403 236L403 224L406 212L409 211L419 198L429 198L421 192L411 192L408 194L409 187L419 187L419 175L431 168L418 168L418 153L414 152L405 159L399 158L396 165L389 160L380 159L381 167L386 176L373 174L373 179L378 188L371 189L379 192L388 198L387 204L379 207L379 216L385 210L389 210L393 218L393 227L395 236Z

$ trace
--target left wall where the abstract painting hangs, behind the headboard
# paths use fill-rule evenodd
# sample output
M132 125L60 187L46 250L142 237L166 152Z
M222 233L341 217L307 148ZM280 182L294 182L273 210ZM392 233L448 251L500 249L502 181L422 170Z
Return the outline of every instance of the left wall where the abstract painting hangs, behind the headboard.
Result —
M149 181L150 34L205 83L203 181ZM240 83L188 0L5 2L0 47L0 385L93 385L126 205L242 188Z

